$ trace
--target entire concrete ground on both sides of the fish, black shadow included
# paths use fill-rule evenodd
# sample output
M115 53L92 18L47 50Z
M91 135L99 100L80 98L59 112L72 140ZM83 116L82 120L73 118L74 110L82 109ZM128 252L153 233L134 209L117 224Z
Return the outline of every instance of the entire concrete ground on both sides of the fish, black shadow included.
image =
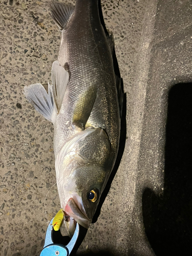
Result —
M192 164L178 153L186 151L182 143L187 133L178 137L184 127L174 140L181 144L168 141L189 109L166 129L169 89L192 77L191 2L101 2L126 93L126 141L98 220L78 254L187 255L192 244ZM58 56L60 32L49 16L49 3L0 1L0 255L5 256L39 255L47 223L60 207L53 125L23 94L27 84L47 86ZM181 86L176 95L182 94ZM191 95L190 86L187 90L186 96ZM178 98L173 104L184 101ZM191 155L190 143L187 152Z

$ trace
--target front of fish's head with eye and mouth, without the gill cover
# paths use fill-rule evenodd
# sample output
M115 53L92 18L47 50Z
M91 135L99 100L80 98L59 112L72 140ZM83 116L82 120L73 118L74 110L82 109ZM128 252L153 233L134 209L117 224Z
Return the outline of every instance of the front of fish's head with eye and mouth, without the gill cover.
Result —
M102 194L106 171L102 166L87 163L74 170L65 186L67 203L63 210L67 216L89 228Z

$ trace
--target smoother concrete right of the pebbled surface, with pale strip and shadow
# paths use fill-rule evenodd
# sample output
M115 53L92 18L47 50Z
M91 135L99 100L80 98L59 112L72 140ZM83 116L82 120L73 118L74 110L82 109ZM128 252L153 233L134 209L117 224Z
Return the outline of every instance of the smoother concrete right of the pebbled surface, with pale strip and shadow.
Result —
M186 179L191 184L191 162L182 159L181 165L186 165L188 172L184 168L182 172L177 164L174 168L170 164L167 167L165 148L169 90L177 83L182 83L185 90L183 83L191 82L192 77L191 3L172 0L159 0L158 5L155 1L148 3L132 91L131 124L127 126L121 163L124 194L116 230L117 245L123 255L154 255L152 248L158 256L187 255L192 240L192 226L187 217L191 216L191 185L186 190ZM190 122L188 119L186 125ZM176 152L179 150L175 148ZM190 147L188 150L191 154ZM176 182L176 176L181 184ZM124 202L130 205L126 210Z

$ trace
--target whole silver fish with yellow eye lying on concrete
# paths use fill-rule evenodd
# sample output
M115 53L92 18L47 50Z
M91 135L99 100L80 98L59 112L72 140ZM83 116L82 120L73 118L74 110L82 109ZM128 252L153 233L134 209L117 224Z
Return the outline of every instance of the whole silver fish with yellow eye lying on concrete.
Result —
M57 188L72 236L76 222L89 228L114 167L123 92L100 1L77 0L75 7L56 2L50 7L61 30L52 84L48 93L40 83L30 84L24 94L54 125Z

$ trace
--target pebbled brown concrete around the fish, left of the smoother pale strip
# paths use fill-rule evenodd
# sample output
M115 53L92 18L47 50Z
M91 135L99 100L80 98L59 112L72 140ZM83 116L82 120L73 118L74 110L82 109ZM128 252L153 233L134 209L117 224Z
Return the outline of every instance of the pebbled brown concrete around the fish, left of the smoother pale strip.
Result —
M148 1L101 2L106 27L114 33L129 123ZM9 0L0 4L0 254L39 255L47 222L59 209L53 125L34 111L23 88L35 82L47 86L52 62L58 56L60 32L49 16L48 1ZM81 253L117 254L119 208L127 207L121 206L123 169L121 164L98 221L91 225L79 248Z

